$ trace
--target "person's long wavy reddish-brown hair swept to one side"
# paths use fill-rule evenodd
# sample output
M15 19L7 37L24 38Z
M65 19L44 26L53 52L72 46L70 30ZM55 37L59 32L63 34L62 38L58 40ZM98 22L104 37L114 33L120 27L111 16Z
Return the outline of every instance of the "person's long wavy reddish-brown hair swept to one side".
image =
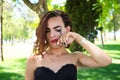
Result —
M34 44L34 48L33 48L34 54L43 55L42 52L48 48L49 44L48 44L47 38L46 38L46 29L48 26L48 20L52 17L57 17L57 16L60 16L62 18L65 27L67 27L67 26L72 27L71 20L67 13L60 11L60 10L46 12L42 16L41 21L40 21L38 27L36 28L37 40L36 40L36 42ZM71 28L71 30L72 30L72 28Z

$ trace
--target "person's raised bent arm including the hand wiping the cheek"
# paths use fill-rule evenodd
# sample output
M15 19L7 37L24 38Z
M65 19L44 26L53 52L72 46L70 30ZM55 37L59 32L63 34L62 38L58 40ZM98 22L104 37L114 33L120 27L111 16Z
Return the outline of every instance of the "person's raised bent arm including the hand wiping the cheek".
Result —
M76 41L80 44L90 56L82 54L81 52L76 52L75 55L77 63L85 65L87 67L102 67L107 66L112 62L111 57L109 57L102 49L94 45L88 40L85 40L84 37L75 32L66 32L60 39L59 43L71 44L73 41Z

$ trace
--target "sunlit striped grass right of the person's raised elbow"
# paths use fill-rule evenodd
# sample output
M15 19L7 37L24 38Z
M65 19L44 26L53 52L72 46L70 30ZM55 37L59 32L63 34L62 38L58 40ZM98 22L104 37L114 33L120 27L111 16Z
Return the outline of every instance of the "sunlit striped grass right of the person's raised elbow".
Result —
M104 47L99 41L96 41L96 44L112 57L112 63L120 64L120 41L107 41Z

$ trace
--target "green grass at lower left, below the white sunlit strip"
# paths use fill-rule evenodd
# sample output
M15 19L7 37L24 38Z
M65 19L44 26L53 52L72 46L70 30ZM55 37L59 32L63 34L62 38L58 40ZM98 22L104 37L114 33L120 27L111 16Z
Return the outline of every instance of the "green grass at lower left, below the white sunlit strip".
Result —
M5 59L0 63L0 80L24 80L26 58Z

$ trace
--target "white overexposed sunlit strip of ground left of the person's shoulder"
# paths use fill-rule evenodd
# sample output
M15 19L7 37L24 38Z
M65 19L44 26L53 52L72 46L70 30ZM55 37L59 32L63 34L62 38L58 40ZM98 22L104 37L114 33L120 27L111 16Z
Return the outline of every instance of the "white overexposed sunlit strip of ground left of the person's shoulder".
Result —
M5 58L25 58L32 54L33 44L4 45L3 53Z

